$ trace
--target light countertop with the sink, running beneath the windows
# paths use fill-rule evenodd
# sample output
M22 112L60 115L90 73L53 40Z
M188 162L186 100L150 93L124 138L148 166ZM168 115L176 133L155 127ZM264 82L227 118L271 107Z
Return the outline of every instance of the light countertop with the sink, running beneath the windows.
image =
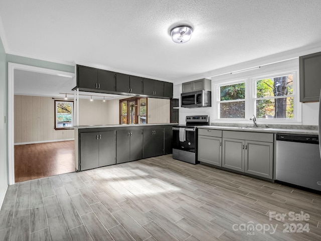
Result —
M317 130L307 129L282 129L282 128L262 128L262 127L231 127L231 126L198 126L199 129L215 129L227 131L249 131L249 132L262 132L262 133L282 133L282 134L306 134L317 135Z

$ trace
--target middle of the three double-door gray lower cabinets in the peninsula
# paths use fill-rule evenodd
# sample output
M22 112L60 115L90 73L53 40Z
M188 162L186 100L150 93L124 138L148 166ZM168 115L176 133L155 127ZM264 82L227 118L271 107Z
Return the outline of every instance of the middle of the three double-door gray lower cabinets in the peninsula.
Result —
M117 130L116 163L142 158L142 129Z

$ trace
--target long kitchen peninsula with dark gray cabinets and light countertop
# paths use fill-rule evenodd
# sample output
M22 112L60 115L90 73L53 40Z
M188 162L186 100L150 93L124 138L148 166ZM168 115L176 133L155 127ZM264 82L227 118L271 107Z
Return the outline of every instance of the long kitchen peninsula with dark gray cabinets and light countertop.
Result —
M84 125L75 129L75 168L83 171L172 153L177 124Z

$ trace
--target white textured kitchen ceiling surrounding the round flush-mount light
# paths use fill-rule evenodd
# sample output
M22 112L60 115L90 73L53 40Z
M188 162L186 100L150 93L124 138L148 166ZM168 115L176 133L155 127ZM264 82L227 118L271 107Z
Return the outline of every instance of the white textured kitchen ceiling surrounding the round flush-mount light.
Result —
M319 0L0 0L10 54L180 82L321 45ZM172 27L189 24L190 42ZM210 77L210 76L207 76Z

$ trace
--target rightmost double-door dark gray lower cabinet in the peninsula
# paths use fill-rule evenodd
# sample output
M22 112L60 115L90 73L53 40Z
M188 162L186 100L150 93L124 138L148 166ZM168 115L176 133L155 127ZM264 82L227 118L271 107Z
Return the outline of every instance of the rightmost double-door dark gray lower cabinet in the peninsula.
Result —
M164 128L143 130L143 158L164 154Z

